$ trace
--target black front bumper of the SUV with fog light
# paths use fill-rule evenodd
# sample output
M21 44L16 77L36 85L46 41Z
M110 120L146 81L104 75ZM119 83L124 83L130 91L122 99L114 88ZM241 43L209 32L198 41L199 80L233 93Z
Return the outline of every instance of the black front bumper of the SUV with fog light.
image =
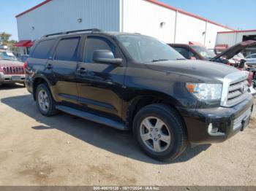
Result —
M245 114L249 110L252 111L252 109L253 98L249 93L243 102L230 108L178 108L187 125L188 139L192 144L210 144L230 139L230 137L243 130L242 122L244 122L244 119L241 119L241 117L247 117ZM241 121L238 121L239 119ZM218 128L218 133L209 133L209 125Z

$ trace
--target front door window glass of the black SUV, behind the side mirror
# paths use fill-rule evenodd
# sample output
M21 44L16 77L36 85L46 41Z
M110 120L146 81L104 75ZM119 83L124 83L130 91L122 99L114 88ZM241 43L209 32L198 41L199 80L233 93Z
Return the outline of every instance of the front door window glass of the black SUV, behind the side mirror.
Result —
M111 50L110 42L101 38L89 38L86 40L86 49L84 54L84 61L92 63L92 57L95 50Z

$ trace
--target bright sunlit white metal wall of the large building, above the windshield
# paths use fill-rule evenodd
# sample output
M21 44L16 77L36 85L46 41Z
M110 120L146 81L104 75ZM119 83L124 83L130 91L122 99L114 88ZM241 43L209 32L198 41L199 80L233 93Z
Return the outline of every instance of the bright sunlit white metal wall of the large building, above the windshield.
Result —
M121 2L124 4L121 9L121 20L125 32L154 36L167 43L200 42L208 48L214 48L217 32L230 31L225 27L146 0L121 0ZM160 28L162 22L166 25Z

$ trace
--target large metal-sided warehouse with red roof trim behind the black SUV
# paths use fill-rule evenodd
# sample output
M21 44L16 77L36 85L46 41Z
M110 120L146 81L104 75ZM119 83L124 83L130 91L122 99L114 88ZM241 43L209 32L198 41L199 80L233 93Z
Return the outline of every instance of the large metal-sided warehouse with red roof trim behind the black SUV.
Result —
M20 41L100 28L146 34L167 43L199 42L214 48L218 31L233 31L156 0L47 0L16 17Z

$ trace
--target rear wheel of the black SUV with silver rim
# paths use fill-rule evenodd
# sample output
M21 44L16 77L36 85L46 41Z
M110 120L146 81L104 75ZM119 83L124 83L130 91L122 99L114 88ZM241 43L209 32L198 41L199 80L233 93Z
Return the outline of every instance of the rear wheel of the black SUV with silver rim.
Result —
M57 114L56 101L54 101L47 84L44 83L37 86L36 98L37 108L41 114L47 117Z

